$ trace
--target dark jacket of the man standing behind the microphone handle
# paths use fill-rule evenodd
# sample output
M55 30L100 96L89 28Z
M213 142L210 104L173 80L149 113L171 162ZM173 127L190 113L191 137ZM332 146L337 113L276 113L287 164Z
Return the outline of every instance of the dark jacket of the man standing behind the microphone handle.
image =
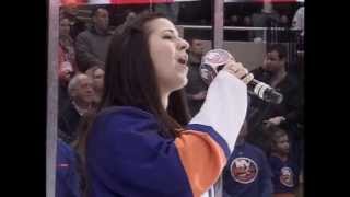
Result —
M257 68L252 72L255 79L267 84L270 83L272 77L270 72L265 71L262 68ZM285 121L280 126L288 131L292 131L300 119L301 95L298 79L292 74L287 74L275 89L283 94L283 101L280 104L267 103L254 95L249 97L250 103L247 113L247 120L249 124L248 141L259 146L264 150L267 150L268 147L268 144L265 144L268 137L264 136L262 132L264 120L268 120L276 116L283 116Z

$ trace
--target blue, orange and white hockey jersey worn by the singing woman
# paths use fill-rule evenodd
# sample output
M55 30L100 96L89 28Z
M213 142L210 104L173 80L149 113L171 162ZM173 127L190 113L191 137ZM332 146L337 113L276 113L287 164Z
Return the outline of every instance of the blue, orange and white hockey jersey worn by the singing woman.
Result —
M175 139L162 137L158 119L145 111L104 109L88 139L90 197L206 196L226 164L246 106L246 85L221 71Z

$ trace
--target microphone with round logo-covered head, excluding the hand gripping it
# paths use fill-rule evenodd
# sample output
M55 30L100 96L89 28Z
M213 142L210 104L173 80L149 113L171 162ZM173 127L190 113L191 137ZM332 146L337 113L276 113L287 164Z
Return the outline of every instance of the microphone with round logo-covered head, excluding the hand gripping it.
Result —
M209 50L201 60L199 72L202 80L209 85L211 81L217 77L218 72L232 59L232 55L223 49ZM249 94L258 96L259 99L268 102L280 104L283 101L283 95L277 92L270 85L253 79L247 84Z

